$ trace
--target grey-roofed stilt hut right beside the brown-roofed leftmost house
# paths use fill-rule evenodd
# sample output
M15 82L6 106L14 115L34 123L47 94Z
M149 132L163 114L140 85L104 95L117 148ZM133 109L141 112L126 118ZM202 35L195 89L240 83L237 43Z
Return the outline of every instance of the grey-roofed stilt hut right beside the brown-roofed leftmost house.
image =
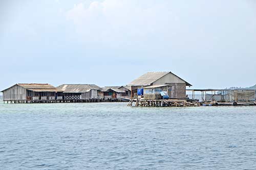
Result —
M62 84L57 88L63 91L64 100L98 99L100 89L95 84Z

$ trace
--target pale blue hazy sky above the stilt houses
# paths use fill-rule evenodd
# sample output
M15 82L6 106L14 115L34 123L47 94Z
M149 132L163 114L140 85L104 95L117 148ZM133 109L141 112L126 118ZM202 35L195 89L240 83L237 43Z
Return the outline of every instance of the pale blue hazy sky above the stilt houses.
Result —
M193 88L256 83L254 1L1 1L0 89L125 85L173 71Z

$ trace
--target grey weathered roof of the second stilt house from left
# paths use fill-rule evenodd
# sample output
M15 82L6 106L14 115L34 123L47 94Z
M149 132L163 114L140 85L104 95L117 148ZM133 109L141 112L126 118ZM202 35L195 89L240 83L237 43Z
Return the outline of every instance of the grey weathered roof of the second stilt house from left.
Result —
M82 93L100 89L100 87L95 84L62 84L57 88L63 90L65 93Z

